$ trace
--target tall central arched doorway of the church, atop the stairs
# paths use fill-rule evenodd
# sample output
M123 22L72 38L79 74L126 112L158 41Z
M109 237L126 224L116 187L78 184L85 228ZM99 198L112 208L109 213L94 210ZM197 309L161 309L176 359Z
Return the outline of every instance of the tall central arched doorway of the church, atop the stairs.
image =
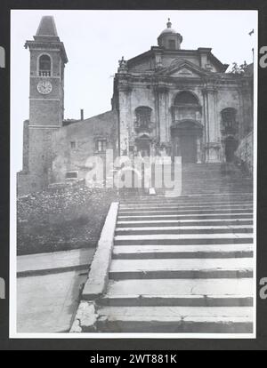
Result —
M201 162L202 126L183 121L172 127L173 157L182 156L182 164Z

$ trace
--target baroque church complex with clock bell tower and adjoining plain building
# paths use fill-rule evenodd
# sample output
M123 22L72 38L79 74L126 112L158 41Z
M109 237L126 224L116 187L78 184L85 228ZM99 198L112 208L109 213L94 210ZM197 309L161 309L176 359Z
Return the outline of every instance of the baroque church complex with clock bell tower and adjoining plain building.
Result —
M87 158L104 157L107 149L115 156L182 156L182 164L242 159L239 148L253 132L253 65L227 73L211 48L182 49L170 20L157 46L119 60L111 109L88 119L64 118L68 57L52 16L42 18L25 47L29 118L19 195L85 179Z

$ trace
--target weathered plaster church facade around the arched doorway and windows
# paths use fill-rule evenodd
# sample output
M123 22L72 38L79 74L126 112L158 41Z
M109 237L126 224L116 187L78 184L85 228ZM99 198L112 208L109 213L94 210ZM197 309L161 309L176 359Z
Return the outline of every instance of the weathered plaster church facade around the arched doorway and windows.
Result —
M118 76L120 81L120 76ZM120 139L122 153L128 152L129 145L134 144L138 134L134 131L135 109L140 106L150 107L151 123L154 129L150 132L150 138L156 139L167 145L171 142L171 126L173 124L172 107L174 98L178 92L189 91L197 98L201 107L196 120L203 126L203 138L201 145L206 150L203 154L207 162L224 161L222 135L222 115L224 108L235 108L239 131L235 138L240 140L246 132L246 127L251 126L252 96L245 80L242 77L218 75L216 79L206 81L201 77L184 78L176 76L166 79L165 76L154 76L154 79L140 74L138 80L127 82L123 76L123 88L119 89L118 105L120 112ZM226 79L226 80L225 80ZM155 82L158 82L155 84ZM120 82L119 82L120 83Z

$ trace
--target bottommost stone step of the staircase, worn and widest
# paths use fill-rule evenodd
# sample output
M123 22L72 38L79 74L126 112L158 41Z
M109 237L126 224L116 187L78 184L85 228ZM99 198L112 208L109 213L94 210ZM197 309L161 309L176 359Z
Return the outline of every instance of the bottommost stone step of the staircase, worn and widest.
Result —
M253 308L102 307L99 332L252 333Z

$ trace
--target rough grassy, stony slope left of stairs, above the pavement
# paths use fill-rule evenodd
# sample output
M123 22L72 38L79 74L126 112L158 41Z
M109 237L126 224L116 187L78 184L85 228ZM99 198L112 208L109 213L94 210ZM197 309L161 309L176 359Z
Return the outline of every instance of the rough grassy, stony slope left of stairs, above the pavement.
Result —
M18 254L95 247L109 205L116 200L115 189L78 184L20 197Z

